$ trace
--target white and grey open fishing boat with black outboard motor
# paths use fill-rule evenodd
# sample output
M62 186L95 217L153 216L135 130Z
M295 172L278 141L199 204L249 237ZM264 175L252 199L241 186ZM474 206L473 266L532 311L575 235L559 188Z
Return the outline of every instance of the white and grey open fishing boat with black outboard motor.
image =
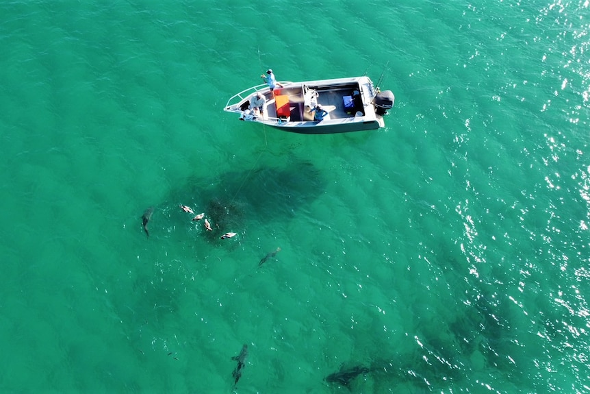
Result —
M240 120L262 123L287 132L333 134L375 130L384 127L383 116L394 106L390 90L381 92L369 77L322 79L306 82L279 82L253 86L233 95L224 108ZM251 108L260 93L266 103L263 111ZM316 119L315 112L323 114Z

